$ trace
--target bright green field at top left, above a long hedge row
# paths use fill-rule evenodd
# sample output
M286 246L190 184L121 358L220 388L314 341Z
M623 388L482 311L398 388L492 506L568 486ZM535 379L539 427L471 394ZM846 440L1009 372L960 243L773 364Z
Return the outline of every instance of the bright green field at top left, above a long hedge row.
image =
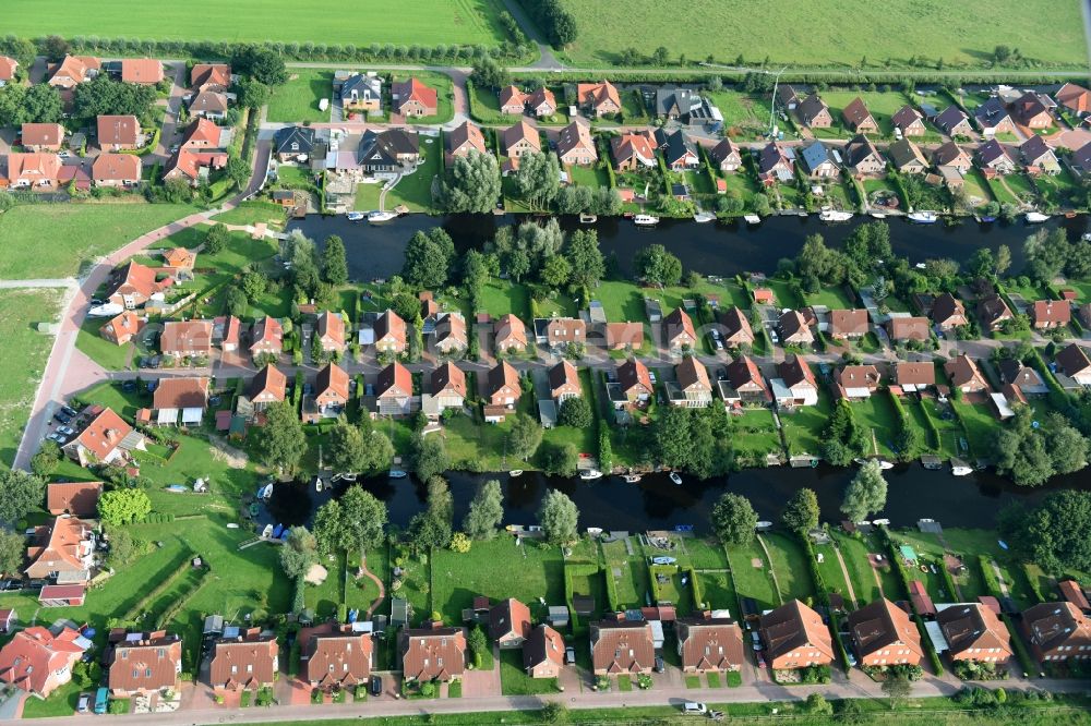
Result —
M184 5L133 5L116 0L60 0L53 17L37 12L34 0L10 0L4 29L25 37L56 33L104 38L155 38L281 43L305 41L422 46L496 45L500 0L408 0L386 12L379 0L348 5L291 0L193 0Z

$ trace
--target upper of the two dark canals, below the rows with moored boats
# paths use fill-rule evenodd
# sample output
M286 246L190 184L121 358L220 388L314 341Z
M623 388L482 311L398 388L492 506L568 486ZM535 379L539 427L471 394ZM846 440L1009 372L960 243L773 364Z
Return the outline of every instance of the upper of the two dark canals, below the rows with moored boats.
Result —
M348 249L349 274L356 280L389 277L401 269L403 253L412 233L442 225L459 250L480 247L491 240L496 228L517 223L524 218L515 215L457 215L428 217L411 215L383 226L349 222L344 216L310 216L292 222L289 229L299 229L321 244L326 237L337 234ZM567 229L580 227L574 217L561 218ZM659 243L673 252L686 269L703 275L733 276L744 271L776 270L781 257L794 257L807 234L819 232L827 244L839 245L856 225L870 221L858 217L843 225L825 225L817 216L770 217L756 227L745 222L709 222L697 225L692 220L664 219L655 229L639 228L627 219L611 217L600 219L595 229L603 254L613 254L622 271L632 275L633 256L649 244ZM1011 225L993 222L979 225L972 219L955 226L913 225L901 219L888 220L890 240L896 254L911 262L930 257L950 257L962 262L981 246L994 251L1002 244L1011 249L1014 269L1022 266L1023 241L1036 229L1063 225L1071 239L1078 239L1088 229L1086 217L1065 219L1057 217L1045 225L1028 227L1017 221Z

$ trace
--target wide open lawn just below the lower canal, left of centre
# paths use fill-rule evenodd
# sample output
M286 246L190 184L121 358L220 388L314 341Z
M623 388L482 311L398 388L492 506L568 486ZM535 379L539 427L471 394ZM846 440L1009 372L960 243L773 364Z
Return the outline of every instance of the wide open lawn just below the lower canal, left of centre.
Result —
M521 554L521 557L519 556ZM538 598L555 604L564 601L561 550L526 541L515 550L511 536L475 542L466 554L436 550L432 557L433 609L449 624L461 622L461 612L484 595L493 602L516 597L541 619ZM420 615L427 615L420 613Z

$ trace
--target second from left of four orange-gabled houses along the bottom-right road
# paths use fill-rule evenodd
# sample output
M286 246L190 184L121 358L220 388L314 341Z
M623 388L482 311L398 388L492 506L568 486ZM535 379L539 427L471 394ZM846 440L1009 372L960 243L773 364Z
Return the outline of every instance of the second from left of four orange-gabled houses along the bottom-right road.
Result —
M886 597L850 613L846 627L864 667L920 665L924 658L916 624Z

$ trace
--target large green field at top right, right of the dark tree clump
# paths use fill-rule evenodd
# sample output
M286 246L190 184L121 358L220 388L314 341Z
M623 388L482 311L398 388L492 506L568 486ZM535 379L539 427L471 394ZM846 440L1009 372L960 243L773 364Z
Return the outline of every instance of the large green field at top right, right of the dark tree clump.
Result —
M768 58L777 68L856 65L862 58L868 66L882 66L888 58L891 64L906 65L914 56L942 57L948 65L981 64L997 44L1019 48L1028 58L1072 66L1087 58L1079 4L1072 0L1004 0L984 16L971 5L946 0L901 5L782 0L777 16L784 21L779 23L769 22L769 5L762 0L695 0L686 5L683 22L674 5L654 0L563 0L562 4L579 28L566 55L579 63L618 62L619 53L630 46L650 55L657 45L670 51L672 61L685 55L690 60L711 56L730 62L741 55L752 64ZM1048 34L1036 29L1043 13L1052 21ZM657 28L656 41L642 46L635 39L647 27Z

